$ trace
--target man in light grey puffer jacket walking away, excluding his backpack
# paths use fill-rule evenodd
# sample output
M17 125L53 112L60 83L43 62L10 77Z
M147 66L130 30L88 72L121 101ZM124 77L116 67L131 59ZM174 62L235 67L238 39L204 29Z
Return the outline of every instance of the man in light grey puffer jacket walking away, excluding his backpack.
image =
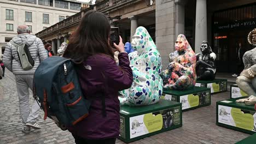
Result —
M29 133L31 128L40 129L36 118L39 115L40 107L36 100L33 100L32 110L30 112L28 88L32 90L33 75L37 69L40 61L47 58L47 53L44 49L44 45L41 39L36 35L30 34L30 29L26 25L18 26L18 35L7 43L5 47L3 62L5 67L15 75L16 88L19 96L19 108L22 119L22 131ZM32 58L34 59L34 66L30 70L24 70L21 67L21 63L18 57L17 47L14 45L26 44L30 51Z

